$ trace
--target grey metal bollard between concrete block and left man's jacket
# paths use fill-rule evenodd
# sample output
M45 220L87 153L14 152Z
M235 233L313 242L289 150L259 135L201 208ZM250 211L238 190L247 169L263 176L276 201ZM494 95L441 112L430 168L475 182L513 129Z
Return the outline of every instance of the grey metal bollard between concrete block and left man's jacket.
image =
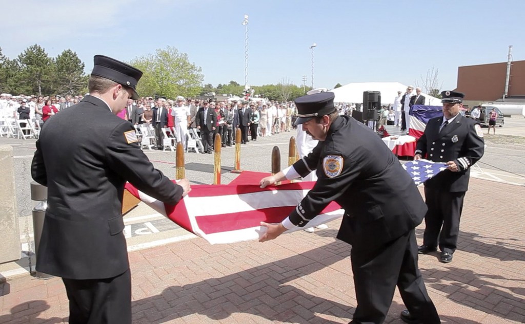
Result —
M40 245L40 237L42 237L42 230L44 229L44 219L46 217L47 209L47 187L40 185L36 181L31 181L31 200L33 200L33 235L35 238L35 256L38 257L38 246ZM35 276L38 279L49 279L53 276L36 272Z

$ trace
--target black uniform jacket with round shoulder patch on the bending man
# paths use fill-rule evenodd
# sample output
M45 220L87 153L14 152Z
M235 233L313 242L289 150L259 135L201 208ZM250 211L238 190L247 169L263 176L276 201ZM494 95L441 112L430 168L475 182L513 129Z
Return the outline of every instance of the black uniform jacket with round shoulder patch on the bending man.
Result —
M370 128L337 117L325 141L293 164L301 176L317 169L318 180L289 215L304 226L335 200L345 210L338 239L376 249L422 222L427 207L408 173Z

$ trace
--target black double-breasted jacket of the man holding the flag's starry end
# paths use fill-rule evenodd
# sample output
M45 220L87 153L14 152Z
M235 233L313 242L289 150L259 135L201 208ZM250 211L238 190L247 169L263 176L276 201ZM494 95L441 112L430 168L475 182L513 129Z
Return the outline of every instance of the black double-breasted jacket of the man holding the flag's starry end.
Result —
M485 151L481 127L477 121L461 114L439 132L442 123L443 117L428 121L424 134L417 141L415 154L434 162L455 161L459 171L439 172L425 181L425 186L449 192L467 191L470 167Z

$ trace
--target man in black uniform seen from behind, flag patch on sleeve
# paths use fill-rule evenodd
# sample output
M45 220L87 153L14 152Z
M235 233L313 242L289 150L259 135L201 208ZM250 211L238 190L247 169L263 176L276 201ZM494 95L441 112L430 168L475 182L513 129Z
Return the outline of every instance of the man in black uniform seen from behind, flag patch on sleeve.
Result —
M116 114L142 72L95 56L90 95L42 128L31 176L48 187L48 208L36 269L62 277L71 324L130 324L131 275L122 219L124 184L176 204L188 191L175 185L139 147L131 123Z

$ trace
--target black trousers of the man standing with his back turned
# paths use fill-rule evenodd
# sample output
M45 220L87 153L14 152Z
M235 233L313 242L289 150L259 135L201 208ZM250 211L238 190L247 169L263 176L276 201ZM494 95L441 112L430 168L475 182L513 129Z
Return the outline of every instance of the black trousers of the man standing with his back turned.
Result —
M62 278L69 324L131 324L131 273L106 279Z

